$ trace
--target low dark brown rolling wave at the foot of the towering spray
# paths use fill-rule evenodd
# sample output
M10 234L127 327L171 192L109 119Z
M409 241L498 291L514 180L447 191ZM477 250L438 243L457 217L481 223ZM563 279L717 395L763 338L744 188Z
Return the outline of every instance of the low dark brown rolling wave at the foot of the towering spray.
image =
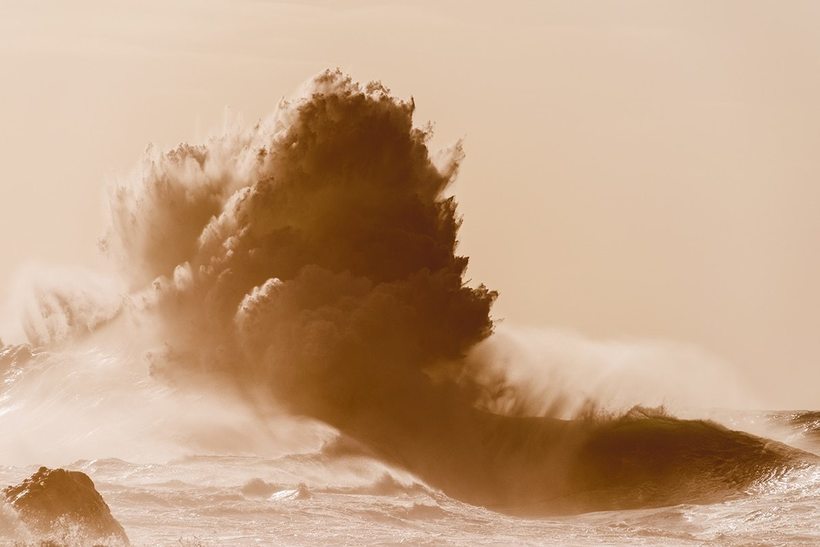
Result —
M589 420L468 416L446 440L392 436L383 455L451 497L517 515L712 503L818 463L714 422L645 410Z

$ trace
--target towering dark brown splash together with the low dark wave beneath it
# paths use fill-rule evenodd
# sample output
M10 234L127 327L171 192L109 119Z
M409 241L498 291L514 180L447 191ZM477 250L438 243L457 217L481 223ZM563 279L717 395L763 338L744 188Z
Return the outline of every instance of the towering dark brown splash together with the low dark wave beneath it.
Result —
M448 494L509 512L703 501L799 459L642 411L561 420L480 408L497 294L465 280L413 100L337 71L246 131L161 153L110 192L102 246L156 333L152 372L333 426ZM468 358L468 355L470 356ZM486 363L485 363L486 364Z

